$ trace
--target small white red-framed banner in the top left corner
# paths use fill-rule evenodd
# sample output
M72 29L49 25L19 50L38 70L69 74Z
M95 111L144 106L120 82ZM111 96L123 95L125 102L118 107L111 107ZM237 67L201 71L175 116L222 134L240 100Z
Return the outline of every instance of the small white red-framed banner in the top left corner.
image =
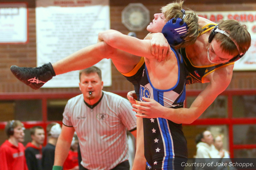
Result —
M28 42L26 3L0 3L0 43Z

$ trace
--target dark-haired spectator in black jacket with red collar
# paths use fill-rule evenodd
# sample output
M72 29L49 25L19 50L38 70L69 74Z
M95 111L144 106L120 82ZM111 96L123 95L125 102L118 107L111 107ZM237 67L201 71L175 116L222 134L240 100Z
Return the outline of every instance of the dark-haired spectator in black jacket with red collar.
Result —
M34 126L30 129L32 142L26 145L25 156L29 170L43 170L42 144L44 143L44 128Z

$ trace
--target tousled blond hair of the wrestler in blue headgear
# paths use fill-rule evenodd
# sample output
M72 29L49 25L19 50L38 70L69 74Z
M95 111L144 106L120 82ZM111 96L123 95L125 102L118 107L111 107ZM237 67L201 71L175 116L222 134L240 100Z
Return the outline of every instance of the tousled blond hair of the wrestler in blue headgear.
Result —
M184 22L187 24L188 30L183 37L184 41L174 46L176 49L184 48L188 45L194 44L198 35L202 31L202 28L198 24L198 15L195 14L195 11L191 10L190 8L182 7L183 2L184 1L182 0L177 0L161 8L161 11L167 21L175 17L182 18L183 13L181 10L185 9L186 15Z

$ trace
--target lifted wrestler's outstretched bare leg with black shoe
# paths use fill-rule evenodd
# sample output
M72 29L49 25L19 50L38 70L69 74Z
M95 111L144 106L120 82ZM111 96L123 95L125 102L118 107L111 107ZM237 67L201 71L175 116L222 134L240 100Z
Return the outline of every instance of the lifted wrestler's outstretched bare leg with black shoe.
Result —
M128 73L140 61L140 57L115 49L105 42L99 42L85 47L53 65L47 63L37 68L20 68L12 65L11 71L17 79L37 90L55 75L88 68L104 58L112 59L116 68L122 73Z

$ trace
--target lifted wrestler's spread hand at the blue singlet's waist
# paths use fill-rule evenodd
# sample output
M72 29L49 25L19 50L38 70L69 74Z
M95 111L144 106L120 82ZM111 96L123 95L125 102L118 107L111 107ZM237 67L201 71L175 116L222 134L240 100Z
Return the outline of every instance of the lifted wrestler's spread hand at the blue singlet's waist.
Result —
M137 102L137 105L132 105L133 111L137 113L143 113L143 114L136 114L135 116L141 117L141 118L157 118L161 117L164 118L161 112L161 108L163 107L155 101L154 99L148 99L143 97L142 98L145 102Z

